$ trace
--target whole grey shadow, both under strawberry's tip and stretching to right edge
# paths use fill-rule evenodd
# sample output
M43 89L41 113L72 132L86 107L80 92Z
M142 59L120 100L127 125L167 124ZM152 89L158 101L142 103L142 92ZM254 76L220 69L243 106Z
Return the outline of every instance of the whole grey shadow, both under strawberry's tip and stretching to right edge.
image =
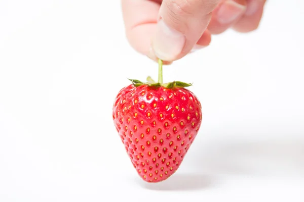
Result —
M192 174L176 172L160 183L141 182L151 190L195 190L211 186L213 175L304 176L304 140L221 140L198 142L189 151L185 167ZM202 144L202 145L200 145ZM200 154L200 155L198 155ZM198 158L199 157L199 158Z

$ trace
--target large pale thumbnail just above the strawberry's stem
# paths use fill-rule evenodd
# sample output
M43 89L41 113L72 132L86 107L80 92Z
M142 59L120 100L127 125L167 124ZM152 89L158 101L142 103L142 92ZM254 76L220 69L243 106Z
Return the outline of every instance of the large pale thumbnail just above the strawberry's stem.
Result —
M182 33L168 27L161 19L157 25L152 47L159 59L172 61L181 53L185 41L185 36Z

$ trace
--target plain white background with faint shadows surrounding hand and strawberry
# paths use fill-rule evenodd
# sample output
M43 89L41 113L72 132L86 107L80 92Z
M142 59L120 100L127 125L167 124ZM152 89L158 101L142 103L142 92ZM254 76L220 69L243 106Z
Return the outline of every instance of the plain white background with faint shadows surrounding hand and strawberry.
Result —
M0 0L0 201L304 201L302 1L269 1L166 66L203 124L167 181L143 182L112 123L127 78L157 64L125 38L120 1Z

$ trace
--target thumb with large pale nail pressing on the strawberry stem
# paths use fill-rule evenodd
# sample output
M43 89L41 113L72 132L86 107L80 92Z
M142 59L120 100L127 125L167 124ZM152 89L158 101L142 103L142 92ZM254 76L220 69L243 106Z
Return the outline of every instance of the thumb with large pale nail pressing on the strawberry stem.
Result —
M219 0L163 0L152 49L174 61L188 54L206 30Z

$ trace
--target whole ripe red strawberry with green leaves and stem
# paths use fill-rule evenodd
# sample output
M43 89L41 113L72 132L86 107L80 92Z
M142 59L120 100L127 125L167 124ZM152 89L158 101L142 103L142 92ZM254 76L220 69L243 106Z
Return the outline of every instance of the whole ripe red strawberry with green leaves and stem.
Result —
M162 61L159 81L122 88L113 104L113 121L139 176L160 182L177 171L198 134L202 121L201 103L185 89L191 84L163 83Z

